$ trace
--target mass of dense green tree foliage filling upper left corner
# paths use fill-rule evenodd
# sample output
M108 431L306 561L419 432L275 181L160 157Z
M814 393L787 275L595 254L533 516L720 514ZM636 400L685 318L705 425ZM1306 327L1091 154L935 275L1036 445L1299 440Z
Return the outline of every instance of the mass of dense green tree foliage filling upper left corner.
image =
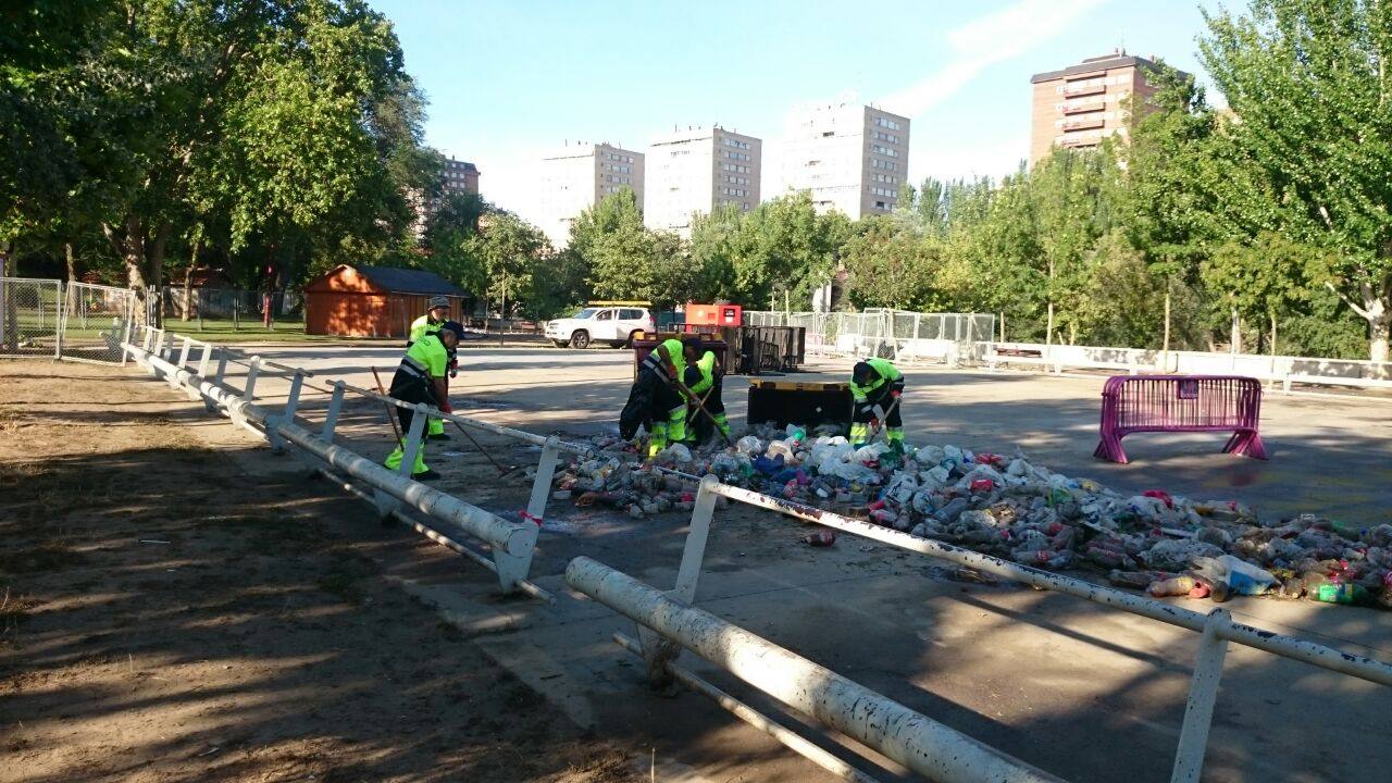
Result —
M195 248L277 287L409 255L438 155L365 4L21 3L6 21L0 242L100 248L136 287Z

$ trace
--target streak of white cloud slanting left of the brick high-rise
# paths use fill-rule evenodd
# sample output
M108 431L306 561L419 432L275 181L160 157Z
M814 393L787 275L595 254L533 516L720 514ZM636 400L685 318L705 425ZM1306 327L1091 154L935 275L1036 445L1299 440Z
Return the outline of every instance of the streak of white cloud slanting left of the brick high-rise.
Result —
M922 81L880 100L910 120L966 86L979 72L1025 54L1109 0L1018 0L948 33L952 60Z

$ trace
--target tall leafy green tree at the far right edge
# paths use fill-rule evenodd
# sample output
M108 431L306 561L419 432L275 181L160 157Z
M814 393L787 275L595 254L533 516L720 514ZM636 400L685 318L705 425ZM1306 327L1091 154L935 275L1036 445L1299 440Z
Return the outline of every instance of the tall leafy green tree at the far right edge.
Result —
M1228 226L1324 248L1314 272L1392 336L1392 3L1251 0L1204 18L1204 65L1237 120L1222 131L1232 176L1215 183ZM1385 365L1384 365L1385 366Z

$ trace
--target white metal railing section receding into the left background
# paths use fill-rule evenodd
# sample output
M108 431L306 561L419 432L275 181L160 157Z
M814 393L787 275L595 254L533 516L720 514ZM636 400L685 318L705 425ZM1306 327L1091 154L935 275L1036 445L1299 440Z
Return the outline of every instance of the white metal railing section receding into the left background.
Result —
M216 346L188 336L173 334L152 326L141 329L143 332L141 344L128 343L124 347L125 351L141 366L155 375L163 375L171 389L182 389L191 400L202 398L210 411L221 412L239 426L264 436L276 451L284 451L287 444L295 446L295 454L305 458L310 468L327 475L358 497L372 502L384 518L388 515L397 517L427 538L494 571L504 591L518 589L536 598L551 600L550 594L528 580L528 574L530 571L536 539L544 521L546 504L550 499L551 481L560 463L560 454L585 456L589 454L586 447L561 442L554 436L543 437L470 417L445 414L426 404L405 403L370 389L361 389L342 379L330 382L331 389L322 389L330 394L329 407L319 432L310 432L295 422L299 412L301 394L306 386L306 379L315 378L313 372L305 368L267 361L259 355L246 355L244 351L227 346ZM189 362L195 359L195 351L198 352L196 365L191 366ZM216 365L213 364L214 358ZM228 383L228 364L246 366L246 375L239 390ZM256 404L258 380L263 375L281 375L291 379L284 407L278 412ZM334 433L342 412L344 398L349 392L380 400L388 405L411 408L418 414L411 422L409 432L405 433L405 444L402 447L405 454L401 468L397 472L334 443ZM523 521L505 521L458 497L437 492L411 479L411 468L415 463L416 450L420 447L420 436L429 417L450 419L461 426L521 440L541 449L528 507L522 513L525 517ZM340 474L366 483L372 488L372 492L358 489ZM459 541L420 524L405 513L408 506L430 520L464 529L469 535L486 542L490 552L476 552Z

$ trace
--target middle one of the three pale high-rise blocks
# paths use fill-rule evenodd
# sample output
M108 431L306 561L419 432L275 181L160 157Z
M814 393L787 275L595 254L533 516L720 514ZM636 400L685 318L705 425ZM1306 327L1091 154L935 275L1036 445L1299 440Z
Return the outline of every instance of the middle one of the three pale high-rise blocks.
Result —
M643 223L690 237L692 216L735 205L759 205L763 142L720 125L688 128L653 139L647 148Z

